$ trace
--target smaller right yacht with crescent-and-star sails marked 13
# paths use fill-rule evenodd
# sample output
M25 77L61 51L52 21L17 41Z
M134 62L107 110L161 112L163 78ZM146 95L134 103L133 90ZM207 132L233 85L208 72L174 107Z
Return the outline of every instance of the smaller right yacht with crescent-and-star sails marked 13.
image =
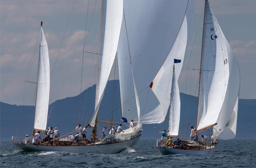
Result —
M219 26L208 0L205 0L196 119L197 132L212 128L213 142L233 139L236 136L239 86L240 74L236 56ZM171 101L180 103L178 97L173 98ZM176 107L176 110L179 108ZM170 113L173 112L170 111ZM170 118L170 121L172 119ZM212 154L216 145L205 146L200 142L181 141L182 146L180 147L165 147L157 143L157 148L161 155L207 155Z

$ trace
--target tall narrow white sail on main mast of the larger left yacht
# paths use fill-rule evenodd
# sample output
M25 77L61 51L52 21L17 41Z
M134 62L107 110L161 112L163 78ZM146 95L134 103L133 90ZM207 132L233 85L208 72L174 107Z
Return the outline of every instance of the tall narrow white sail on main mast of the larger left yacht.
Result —
M100 66L96 87L95 109L90 125L95 119L113 66L123 19L123 0L102 2Z

